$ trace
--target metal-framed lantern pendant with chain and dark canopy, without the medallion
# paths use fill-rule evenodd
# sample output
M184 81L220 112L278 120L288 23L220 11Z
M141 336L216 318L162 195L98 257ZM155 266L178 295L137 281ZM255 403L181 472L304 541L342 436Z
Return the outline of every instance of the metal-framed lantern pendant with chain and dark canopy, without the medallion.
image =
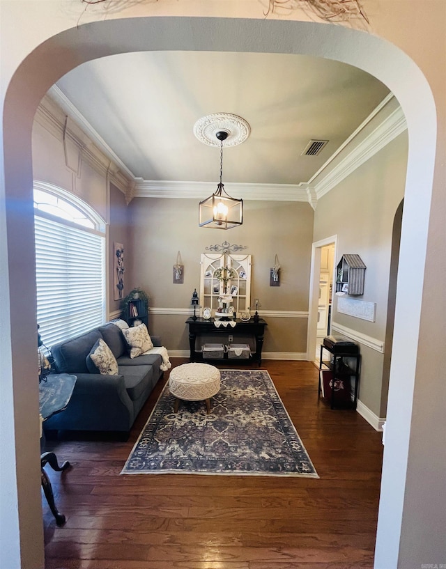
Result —
M220 140L220 183L212 196L199 203L199 226L214 229L231 229L243 224L243 200L231 198L226 194L222 183L223 176L223 141L228 133L218 131L215 136Z

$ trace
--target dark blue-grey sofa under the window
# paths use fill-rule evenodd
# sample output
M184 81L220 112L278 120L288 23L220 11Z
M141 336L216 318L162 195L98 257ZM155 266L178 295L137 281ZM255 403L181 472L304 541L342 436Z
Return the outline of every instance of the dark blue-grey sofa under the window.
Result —
M90 373L87 358L102 338L118 362L118 375ZM151 336L153 345L160 338ZM62 341L51 348L59 373L77 376L70 403L63 412L44 423L45 430L130 431L137 414L153 391L163 371L159 354L129 356L121 329L109 322L82 336Z

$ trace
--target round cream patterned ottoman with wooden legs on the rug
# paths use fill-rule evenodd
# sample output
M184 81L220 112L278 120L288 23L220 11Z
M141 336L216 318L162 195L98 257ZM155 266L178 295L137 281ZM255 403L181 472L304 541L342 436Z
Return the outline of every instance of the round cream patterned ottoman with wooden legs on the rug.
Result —
M180 399L206 401L210 413L210 398L220 391L220 371L209 364L183 364L169 375L169 391L176 397L175 412Z

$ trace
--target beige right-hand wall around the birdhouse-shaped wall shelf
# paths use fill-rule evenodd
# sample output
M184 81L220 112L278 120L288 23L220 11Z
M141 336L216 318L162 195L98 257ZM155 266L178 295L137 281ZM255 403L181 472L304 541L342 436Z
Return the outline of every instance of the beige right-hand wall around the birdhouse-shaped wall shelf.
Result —
M333 296L332 324L338 323L378 341L385 341L387 297L394 216L404 194L408 153L407 133L400 134L383 150L355 170L317 204L314 241L337 234L335 263L341 255L359 254L365 271L364 295L358 299L376 303L376 321L369 322L337 311ZM355 298L355 297L353 297ZM385 350L391 350L385 345ZM362 354L359 398L378 417L385 417L386 393L382 392L384 354L360 345Z

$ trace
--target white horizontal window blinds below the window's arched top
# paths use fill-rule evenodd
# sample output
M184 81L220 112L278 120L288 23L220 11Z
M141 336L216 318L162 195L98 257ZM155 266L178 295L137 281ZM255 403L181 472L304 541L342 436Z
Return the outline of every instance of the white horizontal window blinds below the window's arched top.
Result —
M37 322L50 347L105 321L105 236L34 219Z

